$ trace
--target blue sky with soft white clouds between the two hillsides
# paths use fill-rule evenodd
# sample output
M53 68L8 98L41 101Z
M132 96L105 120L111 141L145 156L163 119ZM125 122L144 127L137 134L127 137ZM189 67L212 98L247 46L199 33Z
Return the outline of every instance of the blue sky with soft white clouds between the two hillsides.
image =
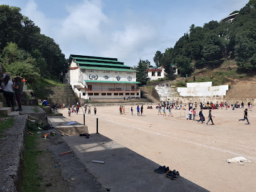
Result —
M154 65L189 31L220 21L248 0L0 0L17 6L60 45L65 58L74 55L118 58L125 65L139 59Z

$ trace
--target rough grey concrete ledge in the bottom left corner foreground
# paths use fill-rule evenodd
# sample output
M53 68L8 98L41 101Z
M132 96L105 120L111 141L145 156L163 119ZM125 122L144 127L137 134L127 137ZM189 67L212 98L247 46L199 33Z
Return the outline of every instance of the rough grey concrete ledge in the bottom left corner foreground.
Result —
M26 116L14 116L14 125L0 139L0 191L21 191Z

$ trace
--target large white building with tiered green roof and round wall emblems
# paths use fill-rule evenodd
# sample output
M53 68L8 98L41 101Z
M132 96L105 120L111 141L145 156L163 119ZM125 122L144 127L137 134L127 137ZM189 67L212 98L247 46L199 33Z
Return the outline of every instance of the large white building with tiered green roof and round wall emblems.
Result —
M67 81L80 99L141 97L136 70L117 58L70 55Z

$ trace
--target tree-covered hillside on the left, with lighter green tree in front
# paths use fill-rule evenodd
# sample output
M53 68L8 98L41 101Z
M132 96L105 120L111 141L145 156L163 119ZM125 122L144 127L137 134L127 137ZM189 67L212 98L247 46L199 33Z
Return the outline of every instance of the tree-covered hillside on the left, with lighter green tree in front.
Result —
M40 28L20 11L0 5L0 62L4 70L29 83L43 75L58 77L67 69L65 55L52 38L42 35Z

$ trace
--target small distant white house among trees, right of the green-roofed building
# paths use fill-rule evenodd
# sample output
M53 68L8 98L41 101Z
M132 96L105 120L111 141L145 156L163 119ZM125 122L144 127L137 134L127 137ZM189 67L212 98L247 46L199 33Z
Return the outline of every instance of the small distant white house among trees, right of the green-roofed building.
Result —
M174 74L178 75L178 68L175 65L171 65L174 70ZM149 78L151 81L152 80L157 80L159 78L164 78L165 76L165 70L164 67L151 67L148 68L146 71L146 77Z

